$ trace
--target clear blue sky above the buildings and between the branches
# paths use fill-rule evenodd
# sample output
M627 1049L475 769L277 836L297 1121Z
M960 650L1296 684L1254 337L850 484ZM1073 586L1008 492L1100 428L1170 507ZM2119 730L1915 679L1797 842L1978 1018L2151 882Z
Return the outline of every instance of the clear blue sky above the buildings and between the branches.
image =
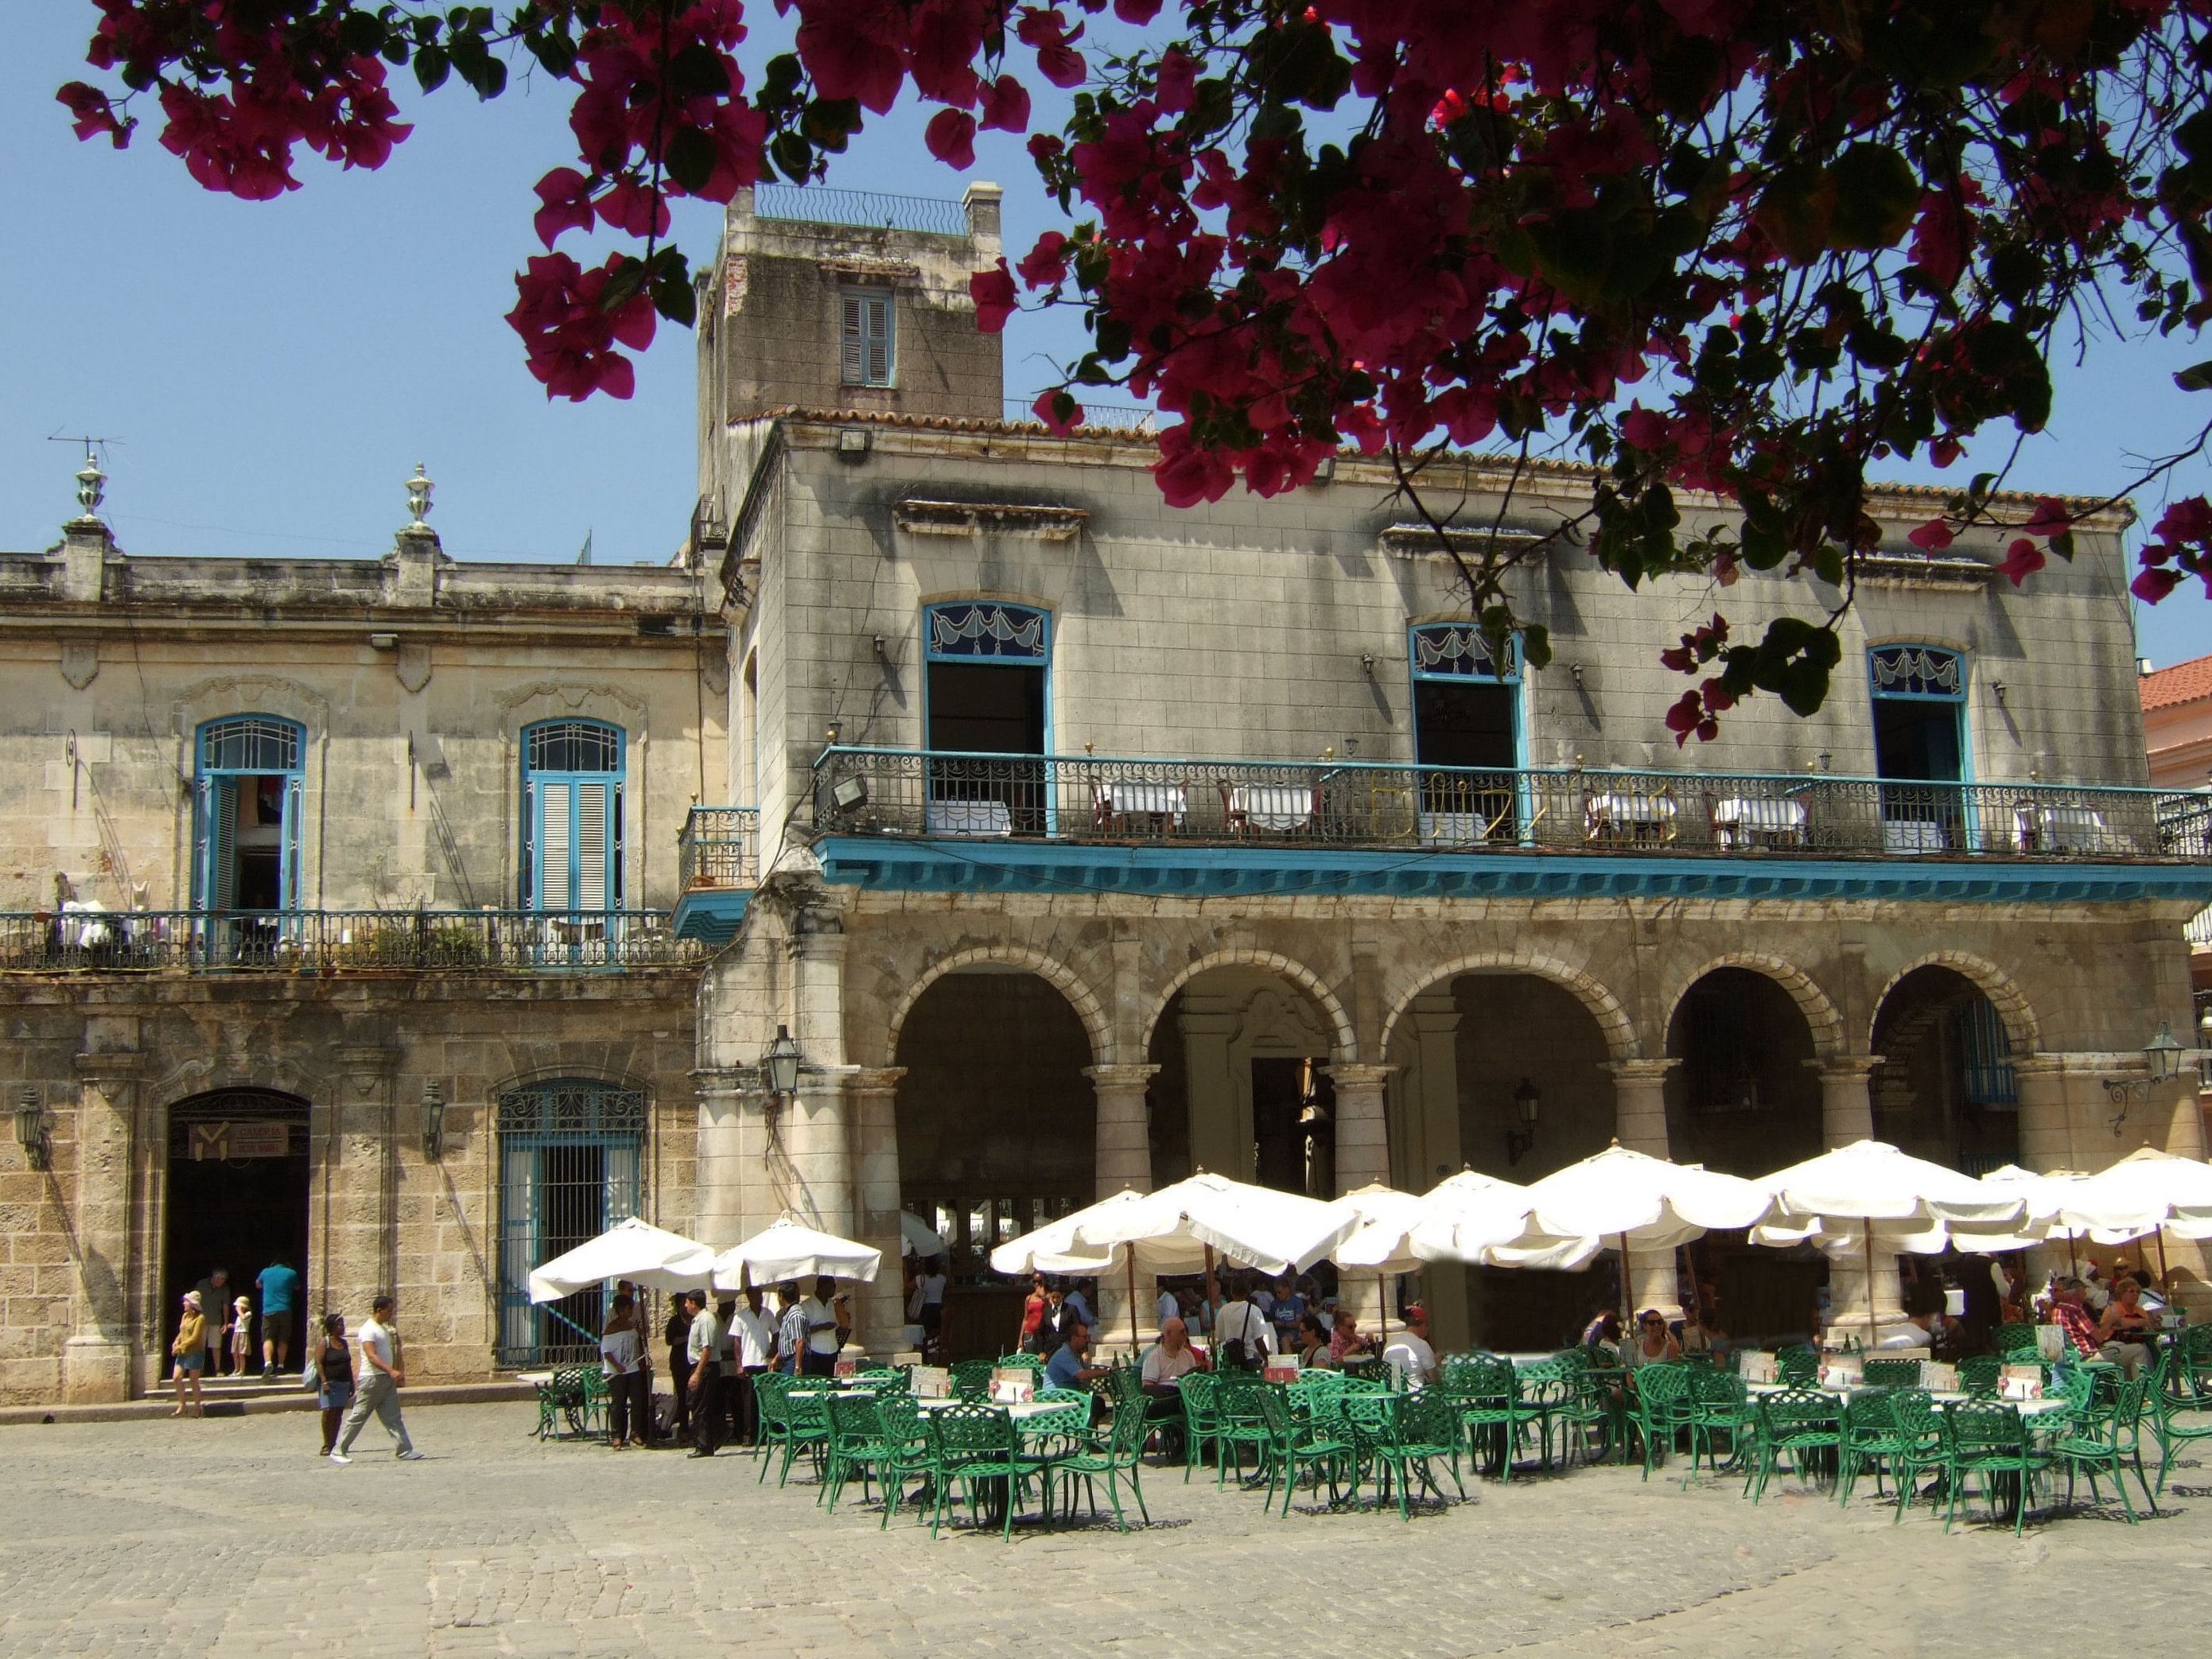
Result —
M49 546L75 509L77 451L51 434L117 438L108 520L133 553L372 557L405 522L416 460L438 482L431 513L456 557L571 560L586 531L604 564L666 560L686 533L692 480L692 336L664 325L637 396L546 403L504 325L513 272L538 248L531 186L571 159L566 88L526 77L480 106L460 86L403 97L420 119L378 173L301 155L301 190L248 204L195 186L155 142L80 144L53 102L88 77L84 0L15 7L0 55L0 549ZM748 62L774 49L754 9ZM411 91L411 82L409 82ZM1040 122L1051 106L1040 100ZM969 177L1006 186L1006 246L1057 212L1018 142L982 135ZM956 197L964 179L929 159L900 108L832 166L832 184ZM712 252L717 212L690 206L677 237ZM564 243L571 246L571 243ZM1071 316L1018 316L1006 392L1053 380L1073 356ZM2051 431L2015 482L2101 493L2130 456L2159 453L2212 411L2172 372L2205 343L2090 341L2059 369ZM1909 482L1951 473L1896 469ZM2212 487L2194 462L2177 487ZM2157 489L2139 498L2157 518ZM2212 653L2212 604L2181 593L2137 606L2141 653L2172 664Z

